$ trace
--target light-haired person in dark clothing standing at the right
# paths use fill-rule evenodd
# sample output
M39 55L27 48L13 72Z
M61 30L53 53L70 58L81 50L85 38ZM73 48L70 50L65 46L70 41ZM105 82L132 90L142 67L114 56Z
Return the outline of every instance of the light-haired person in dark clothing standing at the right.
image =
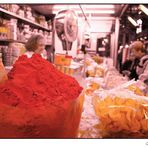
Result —
M127 75L129 79L138 79L136 72L140 59L145 55L144 45L141 41L133 42L130 47L130 57L122 65L122 74Z

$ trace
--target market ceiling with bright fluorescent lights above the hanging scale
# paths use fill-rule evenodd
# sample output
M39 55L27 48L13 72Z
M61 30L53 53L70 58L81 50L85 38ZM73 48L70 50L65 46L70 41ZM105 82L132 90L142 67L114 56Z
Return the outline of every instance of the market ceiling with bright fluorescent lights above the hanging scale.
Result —
M73 9L78 16L83 16L83 12L87 17L102 17L102 16L119 16L122 13L125 4L121 5L103 5L103 4L36 4L32 5L36 11L48 16L50 14L57 14L63 9Z

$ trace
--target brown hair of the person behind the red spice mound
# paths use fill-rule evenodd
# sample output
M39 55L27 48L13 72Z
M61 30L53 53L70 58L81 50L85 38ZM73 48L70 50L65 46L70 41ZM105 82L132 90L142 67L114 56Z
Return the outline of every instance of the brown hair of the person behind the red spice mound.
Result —
M42 35L32 35L25 44L26 50L35 51L37 49L37 43L41 39L44 39Z

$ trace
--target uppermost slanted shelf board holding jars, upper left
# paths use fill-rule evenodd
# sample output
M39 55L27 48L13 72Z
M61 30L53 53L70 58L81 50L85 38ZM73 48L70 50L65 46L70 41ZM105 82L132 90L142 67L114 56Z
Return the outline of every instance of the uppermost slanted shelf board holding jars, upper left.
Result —
M38 23L32 22L31 20L26 19L26 18L22 18L19 15L14 14L13 12L9 12L9 11L3 9L3 8L0 8L0 12L2 12L4 14L7 14L11 18L16 18L18 20L21 20L21 21L25 22L26 24L28 24L30 26L33 26L33 27L36 27L36 28L40 28L40 29L48 31L48 32L51 31L50 29L45 28L44 26L42 26L42 25L40 25Z

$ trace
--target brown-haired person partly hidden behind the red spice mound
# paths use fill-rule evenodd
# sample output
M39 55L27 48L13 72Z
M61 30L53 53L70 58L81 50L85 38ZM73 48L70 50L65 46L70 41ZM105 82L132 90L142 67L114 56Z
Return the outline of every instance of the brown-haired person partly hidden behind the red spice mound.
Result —
M45 50L45 38L38 34L32 35L27 43L25 44L26 52L28 58L32 57L34 53L40 54L44 59L47 59L47 53Z

